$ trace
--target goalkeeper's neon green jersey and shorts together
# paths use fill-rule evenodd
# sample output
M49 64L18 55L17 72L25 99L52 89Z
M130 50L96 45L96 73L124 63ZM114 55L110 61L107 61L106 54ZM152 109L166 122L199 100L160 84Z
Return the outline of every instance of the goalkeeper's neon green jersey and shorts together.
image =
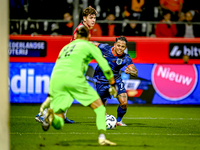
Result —
M113 77L108 62L100 49L88 41L76 39L64 46L54 66L50 85L50 107L54 113L65 112L74 99L88 106L99 99L98 93L88 84L84 76L88 63L95 59L106 78Z

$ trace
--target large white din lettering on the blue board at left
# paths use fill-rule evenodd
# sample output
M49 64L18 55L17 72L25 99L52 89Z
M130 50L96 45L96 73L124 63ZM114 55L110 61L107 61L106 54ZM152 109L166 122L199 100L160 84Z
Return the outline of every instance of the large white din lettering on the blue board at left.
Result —
M15 94L41 94L49 91L49 75L35 75L34 69L20 69L11 77L10 90Z

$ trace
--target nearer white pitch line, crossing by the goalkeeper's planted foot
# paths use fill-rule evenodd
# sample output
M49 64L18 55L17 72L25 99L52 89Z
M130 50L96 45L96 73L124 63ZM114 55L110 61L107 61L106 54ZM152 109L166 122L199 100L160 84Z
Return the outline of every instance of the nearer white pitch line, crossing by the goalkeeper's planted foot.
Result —
M33 133L20 133L20 132L12 132L10 133L12 135L40 135L40 134L43 134L43 135L62 135L62 134L80 134L80 135L92 135L92 134L97 134L97 133L89 133L89 132L85 132L85 133L80 133L80 132L66 132L66 133L63 133L63 132L44 132L44 133L36 133L36 132L33 132ZM200 134L192 134L192 133L188 133L188 134L159 134L159 133L106 133L106 134L110 134L110 135L158 135L158 136L161 136L161 135L165 135L165 136L200 136Z

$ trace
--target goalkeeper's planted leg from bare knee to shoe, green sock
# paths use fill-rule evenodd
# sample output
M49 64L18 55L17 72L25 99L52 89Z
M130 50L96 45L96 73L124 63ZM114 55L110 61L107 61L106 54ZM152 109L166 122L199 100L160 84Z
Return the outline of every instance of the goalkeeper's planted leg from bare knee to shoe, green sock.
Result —
M105 112L106 109L101 101L101 99L97 99L94 101L90 107L96 113L96 125L99 131L98 142L100 145L117 145L114 142L111 142L106 139L105 132L106 132L106 119L105 119Z

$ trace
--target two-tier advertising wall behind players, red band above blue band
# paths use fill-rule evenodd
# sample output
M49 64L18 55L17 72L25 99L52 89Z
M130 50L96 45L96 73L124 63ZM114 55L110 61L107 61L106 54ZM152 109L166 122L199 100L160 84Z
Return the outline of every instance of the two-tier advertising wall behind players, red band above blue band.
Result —
M58 53L70 39L71 36L10 36L11 103L45 100ZM91 40L113 45L116 37ZM138 69L138 77L127 75L122 69L129 104L200 104L200 38L127 37L127 40L126 52ZM187 65L183 55L189 56ZM86 75L92 77L95 66L92 61ZM89 84L95 89L94 83ZM118 101L112 98L108 103Z

